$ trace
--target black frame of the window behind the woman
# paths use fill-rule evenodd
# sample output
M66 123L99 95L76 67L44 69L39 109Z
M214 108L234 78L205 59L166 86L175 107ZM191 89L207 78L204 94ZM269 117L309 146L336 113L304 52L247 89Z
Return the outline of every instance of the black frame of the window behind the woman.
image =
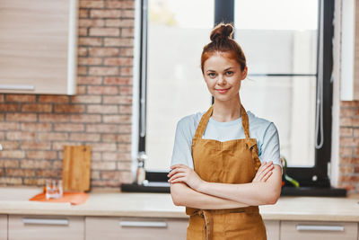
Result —
M146 102L146 49L148 29L147 11L148 0L141 0L141 58L140 58L140 91L139 91L139 138L138 152L145 152L145 102ZM321 11L322 9L322 11ZM234 0L215 0L215 25L219 22L234 22ZM323 146L315 149L315 164L313 167L288 167L286 172L301 183L301 187L320 187L329 188L328 164L331 155L331 126L332 126L332 99L333 83L331 73L333 69L333 43L334 36L334 0L319 0L319 36L318 36L318 59L317 74L296 75L296 74L267 74L260 76L316 76L318 84L318 73L320 71L320 44L322 44L322 78L323 78ZM320 31L322 32L322 42L320 42ZM259 76L253 74L251 76ZM317 106L318 107L318 106ZM142 133L141 133L142 132ZM320 139L318 139L320 140ZM314 146L313 146L314 147ZM147 179L155 182L167 181L167 172L146 172Z

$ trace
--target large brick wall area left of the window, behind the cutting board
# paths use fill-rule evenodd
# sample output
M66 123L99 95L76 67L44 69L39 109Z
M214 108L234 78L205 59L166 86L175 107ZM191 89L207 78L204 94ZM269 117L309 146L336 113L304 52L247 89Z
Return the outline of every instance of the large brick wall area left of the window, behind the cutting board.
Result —
M130 182L135 1L79 1L77 94L0 94L1 185L60 178L63 147L92 147L92 187Z

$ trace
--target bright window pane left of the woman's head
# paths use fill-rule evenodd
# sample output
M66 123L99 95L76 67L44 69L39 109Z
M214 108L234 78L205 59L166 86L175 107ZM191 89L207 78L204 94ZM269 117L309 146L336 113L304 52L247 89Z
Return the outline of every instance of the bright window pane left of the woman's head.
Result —
M168 170L176 124L206 111L211 96L200 69L214 1L149 0L146 168Z

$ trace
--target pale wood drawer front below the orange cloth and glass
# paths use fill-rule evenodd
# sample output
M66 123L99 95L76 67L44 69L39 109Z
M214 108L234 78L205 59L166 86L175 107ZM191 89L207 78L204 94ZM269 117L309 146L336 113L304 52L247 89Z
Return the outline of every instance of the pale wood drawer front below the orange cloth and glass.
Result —
M81 240L83 217L9 216L9 240Z

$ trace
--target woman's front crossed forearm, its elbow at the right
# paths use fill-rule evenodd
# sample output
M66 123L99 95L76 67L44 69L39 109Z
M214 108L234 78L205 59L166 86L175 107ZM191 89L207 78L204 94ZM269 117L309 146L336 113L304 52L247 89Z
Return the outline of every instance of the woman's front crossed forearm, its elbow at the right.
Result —
M250 206L274 204L281 191L281 169L276 166L267 182L228 184L203 182L197 191L226 200L241 201Z

